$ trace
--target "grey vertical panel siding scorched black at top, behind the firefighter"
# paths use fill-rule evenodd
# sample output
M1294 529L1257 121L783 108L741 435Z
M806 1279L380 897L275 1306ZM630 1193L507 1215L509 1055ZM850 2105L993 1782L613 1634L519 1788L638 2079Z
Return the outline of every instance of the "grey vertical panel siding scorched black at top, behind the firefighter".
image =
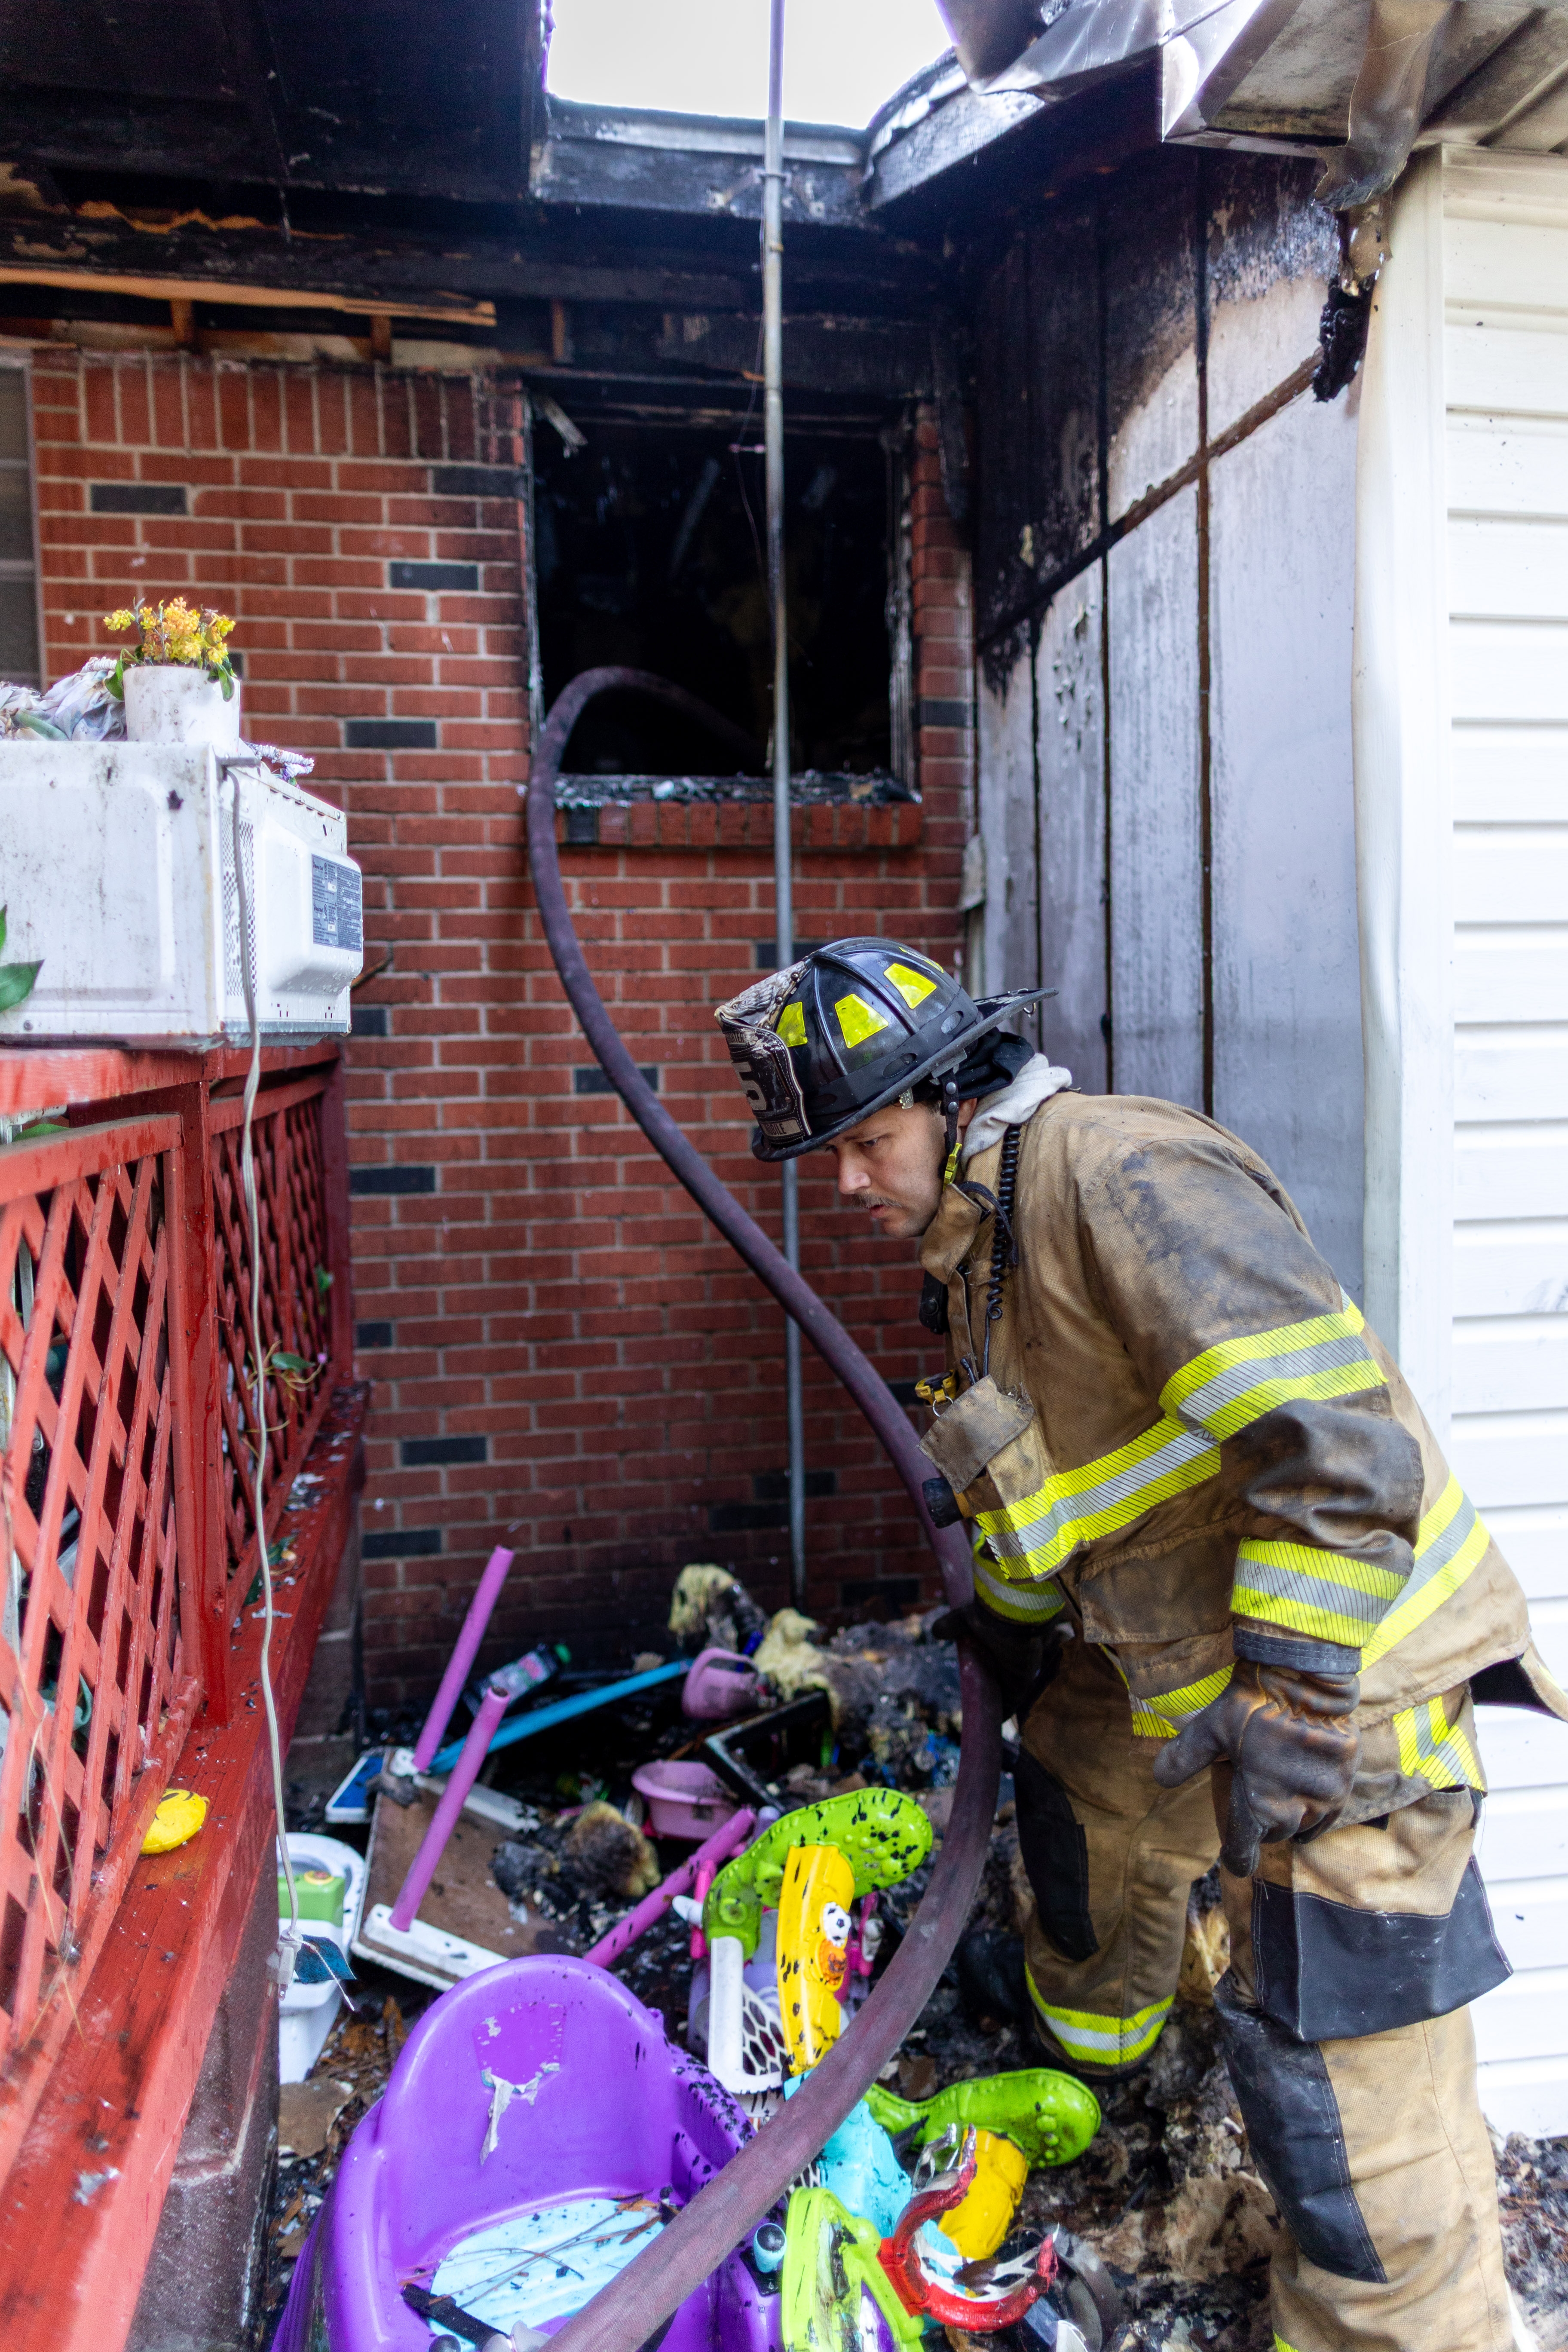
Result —
M1159 153L976 310L985 985L1077 1084L1237 1127L1361 1265L1354 393L1307 397L1312 169Z

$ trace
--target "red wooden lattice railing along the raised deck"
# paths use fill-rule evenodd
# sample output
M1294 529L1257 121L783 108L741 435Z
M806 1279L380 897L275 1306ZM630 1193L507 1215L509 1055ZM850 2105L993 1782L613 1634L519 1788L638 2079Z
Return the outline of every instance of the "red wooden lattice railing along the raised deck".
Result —
M0 2060L85 1983L197 1705L233 1703L256 1343L242 1103L197 1068L0 1145ZM268 1534L348 1357L336 1082L256 1103Z

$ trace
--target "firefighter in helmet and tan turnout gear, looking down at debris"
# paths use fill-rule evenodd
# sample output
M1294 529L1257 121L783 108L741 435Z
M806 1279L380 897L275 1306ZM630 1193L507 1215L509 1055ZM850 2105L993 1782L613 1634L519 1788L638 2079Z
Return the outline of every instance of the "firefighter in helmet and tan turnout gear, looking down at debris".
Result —
M969 1522L1023 1724L1037 2032L1086 2079L1145 2060L1218 1856L1279 2352L1505 2352L1472 1705L1568 1700L1279 1178L1178 1103L1072 1091L1006 1028L1037 995L844 938L717 1016L755 1155L830 1148L919 1242L926 1501Z

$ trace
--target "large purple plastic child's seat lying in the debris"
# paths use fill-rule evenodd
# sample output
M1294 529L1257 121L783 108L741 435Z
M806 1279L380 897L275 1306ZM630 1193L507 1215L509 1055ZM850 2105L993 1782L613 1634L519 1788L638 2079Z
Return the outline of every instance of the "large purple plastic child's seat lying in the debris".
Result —
M484 1969L433 2002L348 2143L275 2352L423 2352L433 2331L402 2286L447 2293L437 2272L468 2260L477 2232L512 2220L529 2230L545 2209L590 2211L585 2199L689 2204L748 2138L741 2107L614 1976L555 1957ZM512 2251L489 2260L505 2270ZM564 2319L557 2310L536 2324ZM663 2352L776 2345L778 2296L759 2291L741 2253L682 2303L663 2338Z

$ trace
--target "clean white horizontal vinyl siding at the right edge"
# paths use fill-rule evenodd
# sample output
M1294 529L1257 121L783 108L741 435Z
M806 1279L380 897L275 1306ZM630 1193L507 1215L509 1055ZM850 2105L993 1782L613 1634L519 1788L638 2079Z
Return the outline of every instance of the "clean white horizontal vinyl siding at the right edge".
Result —
M1568 160L1443 158L1450 1458L1568 1679ZM1481 1712L1502 2131L1568 2131L1568 1726Z

